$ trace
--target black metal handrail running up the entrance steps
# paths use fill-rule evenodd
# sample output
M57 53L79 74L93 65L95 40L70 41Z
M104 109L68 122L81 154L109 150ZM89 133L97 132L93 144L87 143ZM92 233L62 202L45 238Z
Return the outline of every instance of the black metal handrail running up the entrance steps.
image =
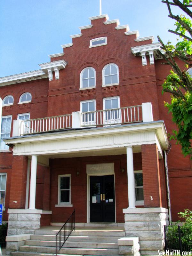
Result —
M63 227L55 235L55 255L57 256L63 244L67 241L68 237L75 231L75 210L72 212L68 220L65 222Z

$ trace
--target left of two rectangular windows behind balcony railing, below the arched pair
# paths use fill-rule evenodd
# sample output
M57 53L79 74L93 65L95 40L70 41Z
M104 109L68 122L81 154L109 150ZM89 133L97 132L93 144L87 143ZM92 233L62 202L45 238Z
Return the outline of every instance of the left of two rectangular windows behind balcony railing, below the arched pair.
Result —
M95 125L95 113L84 113L95 111L95 100L81 101L82 125Z

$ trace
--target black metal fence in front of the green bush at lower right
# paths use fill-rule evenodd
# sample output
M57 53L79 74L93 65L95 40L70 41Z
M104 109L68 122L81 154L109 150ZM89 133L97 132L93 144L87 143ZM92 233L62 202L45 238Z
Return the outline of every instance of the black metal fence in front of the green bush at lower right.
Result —
M165 250L192 252L192 227L164 226Z

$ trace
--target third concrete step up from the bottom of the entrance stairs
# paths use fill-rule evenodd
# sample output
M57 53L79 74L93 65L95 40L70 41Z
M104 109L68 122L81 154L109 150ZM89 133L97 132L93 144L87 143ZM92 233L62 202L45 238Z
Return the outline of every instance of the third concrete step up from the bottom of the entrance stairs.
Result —
M35 246L55 246L55 241L42 241L42 240L26 240L25 245ZM105 249L118 249L117 243L96 243L96 242L70 242L66 241L63 247L71 248L105 248Z

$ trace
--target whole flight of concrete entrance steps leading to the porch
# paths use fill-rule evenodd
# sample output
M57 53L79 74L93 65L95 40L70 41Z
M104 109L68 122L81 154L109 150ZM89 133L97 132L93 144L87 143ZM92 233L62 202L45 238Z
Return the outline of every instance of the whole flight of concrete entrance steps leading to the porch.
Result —
M58 229L58 228L57 228ZM12 256L53 256L55 255L55 232L52 229L38 229L25 245L20 246ZM78 227L60 250L64 255L119 255L117 240L125 236L123 227Z

